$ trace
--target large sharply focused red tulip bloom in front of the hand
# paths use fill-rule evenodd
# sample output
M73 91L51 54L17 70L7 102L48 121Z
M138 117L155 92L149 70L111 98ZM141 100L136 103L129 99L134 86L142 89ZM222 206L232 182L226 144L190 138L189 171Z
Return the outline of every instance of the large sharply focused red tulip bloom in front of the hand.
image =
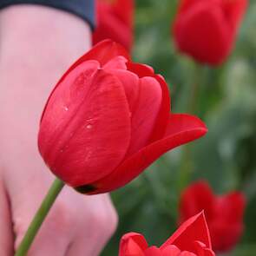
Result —
M124 186L153 161L205 135L197 117L171 114L167 83L106 40L82 56L49 96L38 145L51 171L78 191Z

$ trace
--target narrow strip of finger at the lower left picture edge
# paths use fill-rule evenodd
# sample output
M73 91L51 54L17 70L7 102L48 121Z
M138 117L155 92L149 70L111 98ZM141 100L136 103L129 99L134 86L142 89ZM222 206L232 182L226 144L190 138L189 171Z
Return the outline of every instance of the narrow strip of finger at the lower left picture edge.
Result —
M13 255L13 234L10 216L10 203L0 179L0 255Z

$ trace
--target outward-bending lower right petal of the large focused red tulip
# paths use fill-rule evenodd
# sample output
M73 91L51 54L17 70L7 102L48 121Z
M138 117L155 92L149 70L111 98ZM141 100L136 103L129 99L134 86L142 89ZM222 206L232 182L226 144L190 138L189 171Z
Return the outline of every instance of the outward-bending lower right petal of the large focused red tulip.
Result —
M123 161L114 172L95 182L95 193L104 193L124 186L129 181L152 164L161 154L189 141L194 141L207 133L205 124L193 115L172 114L169 118L167 134L159 141L145 148Z

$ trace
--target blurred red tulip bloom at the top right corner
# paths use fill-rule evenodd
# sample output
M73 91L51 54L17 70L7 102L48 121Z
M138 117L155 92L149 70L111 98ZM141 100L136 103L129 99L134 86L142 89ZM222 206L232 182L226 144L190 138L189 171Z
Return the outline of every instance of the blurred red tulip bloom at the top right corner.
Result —
M246 11L247 0L181 0L174 41L198 62L224 62Z

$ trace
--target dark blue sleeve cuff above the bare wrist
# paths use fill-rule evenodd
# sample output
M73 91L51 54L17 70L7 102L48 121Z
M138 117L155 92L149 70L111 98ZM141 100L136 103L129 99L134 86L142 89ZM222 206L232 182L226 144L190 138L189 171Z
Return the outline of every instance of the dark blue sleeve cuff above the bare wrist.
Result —
M94 0L0 0L0 9L12 4L41 4L59 10L69 11L88 22L91 29L95 28L95 1Z

